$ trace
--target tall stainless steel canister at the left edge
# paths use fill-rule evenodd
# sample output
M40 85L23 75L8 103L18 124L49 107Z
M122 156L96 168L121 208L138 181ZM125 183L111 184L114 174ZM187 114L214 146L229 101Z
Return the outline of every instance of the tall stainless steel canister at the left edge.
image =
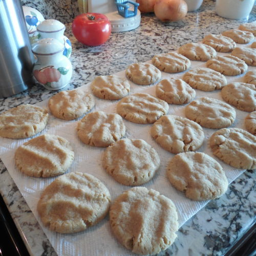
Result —
M0 0L0 98L33 84L33 62L22 4L19 0Z

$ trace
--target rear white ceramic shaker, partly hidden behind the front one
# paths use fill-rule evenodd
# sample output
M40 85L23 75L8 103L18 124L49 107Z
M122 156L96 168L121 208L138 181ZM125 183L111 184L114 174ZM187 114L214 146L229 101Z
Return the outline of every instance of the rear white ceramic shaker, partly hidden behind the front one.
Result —
M65 29L65 25L56 19L46 19L36 27L41 39L55 38L59 40L65 47L63 50L63 55L69 58L72 52L72 46L69 38L63 35Z

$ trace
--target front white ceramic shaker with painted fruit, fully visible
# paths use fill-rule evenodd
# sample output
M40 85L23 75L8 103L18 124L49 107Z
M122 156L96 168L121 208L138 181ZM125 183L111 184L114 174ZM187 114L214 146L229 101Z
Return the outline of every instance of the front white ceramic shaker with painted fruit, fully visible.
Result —
M38 40L32 46L37 57L33 74L38 83L49 90L59 90L69 83L72 76L72 64L63 55L64 45L55 38Z

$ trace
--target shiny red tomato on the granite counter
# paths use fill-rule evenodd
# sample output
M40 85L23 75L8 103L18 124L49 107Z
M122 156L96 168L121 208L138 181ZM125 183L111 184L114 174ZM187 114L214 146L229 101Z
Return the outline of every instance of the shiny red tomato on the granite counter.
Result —
M87 46L99 46L110 37L111 24L108 17L100 13L82 13L73 20L75 38Z

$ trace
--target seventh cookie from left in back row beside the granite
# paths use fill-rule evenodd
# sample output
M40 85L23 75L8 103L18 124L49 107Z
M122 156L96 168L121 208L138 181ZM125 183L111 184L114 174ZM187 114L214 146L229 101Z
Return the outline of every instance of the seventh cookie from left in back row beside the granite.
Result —
M217 52L231 52L236 47L236 43L224 35L206 35L202 42L205 45L211 46Z

